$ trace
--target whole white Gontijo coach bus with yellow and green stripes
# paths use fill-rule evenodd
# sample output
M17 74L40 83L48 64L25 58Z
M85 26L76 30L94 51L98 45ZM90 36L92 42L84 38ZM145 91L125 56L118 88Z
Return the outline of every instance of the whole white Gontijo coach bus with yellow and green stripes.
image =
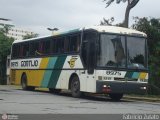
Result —
M16 40L11 82L24 90L48 88L108 94L144 94L148 83L146 34L114 26L93 26L53 36Z

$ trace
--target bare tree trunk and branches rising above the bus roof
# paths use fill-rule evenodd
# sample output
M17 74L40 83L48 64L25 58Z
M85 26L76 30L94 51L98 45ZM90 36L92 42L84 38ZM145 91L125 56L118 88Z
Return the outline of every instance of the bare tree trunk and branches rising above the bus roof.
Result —
M114 2L115 0L104 0L104 2L106 2L106 7L110 6L112 2ZM129 13L130 10L137 5L137 3L139 2L139 0L116 0L116 3L119 4L121 2L128 2L127 4L127 8L125 11L125 18L124 18L124 22L123 22L123 27L128 28L128 24L129 24Z

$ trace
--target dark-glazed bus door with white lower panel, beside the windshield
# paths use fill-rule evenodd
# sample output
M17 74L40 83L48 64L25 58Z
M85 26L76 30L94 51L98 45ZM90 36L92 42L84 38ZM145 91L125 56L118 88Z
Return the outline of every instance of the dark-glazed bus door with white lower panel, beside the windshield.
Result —
M95 91L95 40L96 32L86 31L84 32L82 41L82 61L85 68L85 74L83 75L83 80L81 81L86 87L87 92Z

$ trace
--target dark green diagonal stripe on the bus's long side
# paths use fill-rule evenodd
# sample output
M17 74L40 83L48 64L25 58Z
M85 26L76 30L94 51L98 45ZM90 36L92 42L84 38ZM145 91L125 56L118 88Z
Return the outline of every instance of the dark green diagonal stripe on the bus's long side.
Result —
M52 71L52 75L51 75L50 80L49 80L48 88L55 88L56 87L59 76L60 76L61 71L62 71L62 67L63 67L64 62L66 60L66 57L67 56L58 57L58 59L55 63L55 66L54 66L55 70Z

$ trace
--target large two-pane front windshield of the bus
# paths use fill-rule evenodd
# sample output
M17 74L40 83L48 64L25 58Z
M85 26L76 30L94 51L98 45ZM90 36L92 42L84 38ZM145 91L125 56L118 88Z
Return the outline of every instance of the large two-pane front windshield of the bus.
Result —
M101 34L97 52L98 67L145 69L146 39Z

